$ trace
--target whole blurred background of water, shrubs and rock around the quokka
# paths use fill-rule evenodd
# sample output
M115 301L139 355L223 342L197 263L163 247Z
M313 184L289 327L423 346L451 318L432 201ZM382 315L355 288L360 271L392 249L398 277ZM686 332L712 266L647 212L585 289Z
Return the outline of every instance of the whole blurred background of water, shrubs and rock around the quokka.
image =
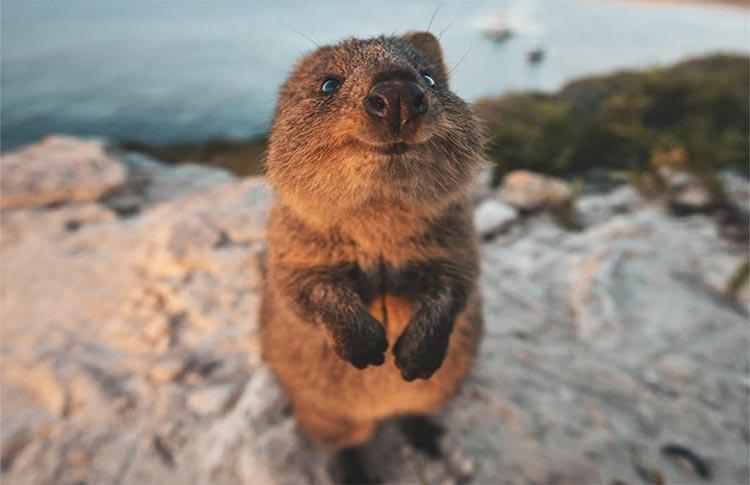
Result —
M276 94L428 29L474 104L486 337L385 483L747 483L743 0L0 1L7 483L331 483L262 363Z

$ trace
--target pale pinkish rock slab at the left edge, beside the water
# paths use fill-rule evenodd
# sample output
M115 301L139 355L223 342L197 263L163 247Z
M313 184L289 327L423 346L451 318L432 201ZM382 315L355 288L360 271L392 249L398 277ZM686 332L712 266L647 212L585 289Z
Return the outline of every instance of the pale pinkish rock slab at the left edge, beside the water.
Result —
M0 207L93 201L125 184L125 167L103 142L45 138L0 157Z

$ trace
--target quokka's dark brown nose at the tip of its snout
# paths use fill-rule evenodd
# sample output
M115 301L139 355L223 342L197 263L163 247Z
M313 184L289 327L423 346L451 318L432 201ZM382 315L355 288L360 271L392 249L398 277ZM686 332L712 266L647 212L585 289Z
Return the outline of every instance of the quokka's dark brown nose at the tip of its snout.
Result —
M365 111L373 118L383 119L399 134L404 125L427 112L427 96L414 81L391 79L375 83L364 99Z

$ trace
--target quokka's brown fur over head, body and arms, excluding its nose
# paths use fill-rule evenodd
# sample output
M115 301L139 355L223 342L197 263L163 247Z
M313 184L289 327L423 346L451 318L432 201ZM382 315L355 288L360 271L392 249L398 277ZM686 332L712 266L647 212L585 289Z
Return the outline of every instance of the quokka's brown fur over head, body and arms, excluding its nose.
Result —
M396 78L428 103L398 133L363 109L374 83ZM316 443L351 446L383 419L436 413L469 372L482 318L466 190L482 141L429 33L322 47L282 87L262 341Z

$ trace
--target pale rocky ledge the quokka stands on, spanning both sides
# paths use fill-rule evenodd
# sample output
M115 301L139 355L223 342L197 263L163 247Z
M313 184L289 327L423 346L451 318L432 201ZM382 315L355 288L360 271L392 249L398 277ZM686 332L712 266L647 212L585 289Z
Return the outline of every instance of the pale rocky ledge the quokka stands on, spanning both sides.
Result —
M0 169L3 480L333 480L260 355L261 179L63 137ZM747 482L748 291L727 291L747 241L628 185L571 193L529 173L475 191L478 365L441 458L383 426L383 481ZM538 208L558 196L576 230Z

